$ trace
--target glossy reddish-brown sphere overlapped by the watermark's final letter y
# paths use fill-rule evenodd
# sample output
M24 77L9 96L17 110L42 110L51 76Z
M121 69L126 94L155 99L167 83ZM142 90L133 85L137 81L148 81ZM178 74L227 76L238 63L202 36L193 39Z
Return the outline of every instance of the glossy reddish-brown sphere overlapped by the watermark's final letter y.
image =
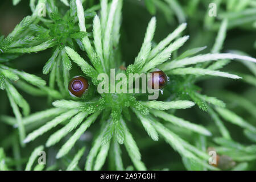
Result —
M151 79L149 81L149 85L152 85L152 89L162 89L168 82L168 77L166 75L166 73L164 73L163 71L159 70L159 71L154 71L154 72L150 72L151 73ZM156 83L158 83L158 88L155 85L155 80Z

